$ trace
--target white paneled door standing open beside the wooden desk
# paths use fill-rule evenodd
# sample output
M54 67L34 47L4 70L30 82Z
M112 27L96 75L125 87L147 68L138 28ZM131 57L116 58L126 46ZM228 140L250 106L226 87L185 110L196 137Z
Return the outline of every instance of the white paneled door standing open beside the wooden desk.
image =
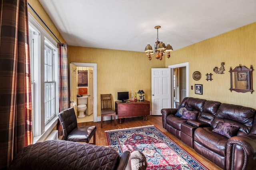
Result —
M171 108L171 68L151 68L152 115L162 115L162 108Z

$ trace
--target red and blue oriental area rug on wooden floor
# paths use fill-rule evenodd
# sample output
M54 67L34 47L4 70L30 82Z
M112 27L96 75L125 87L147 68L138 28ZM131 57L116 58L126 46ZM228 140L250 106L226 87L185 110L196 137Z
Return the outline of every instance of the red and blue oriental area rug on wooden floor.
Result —
M147 158L147 170L208 170L154 125L105 131L108 145L121 155L139 150Z

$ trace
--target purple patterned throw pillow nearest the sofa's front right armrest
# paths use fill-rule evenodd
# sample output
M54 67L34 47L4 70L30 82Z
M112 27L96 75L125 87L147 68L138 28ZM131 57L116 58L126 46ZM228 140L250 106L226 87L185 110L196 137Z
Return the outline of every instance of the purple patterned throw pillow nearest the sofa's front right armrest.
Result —
M237 125L220 121L212 131L230 138L236 135L238 129L240 129L240 127Z

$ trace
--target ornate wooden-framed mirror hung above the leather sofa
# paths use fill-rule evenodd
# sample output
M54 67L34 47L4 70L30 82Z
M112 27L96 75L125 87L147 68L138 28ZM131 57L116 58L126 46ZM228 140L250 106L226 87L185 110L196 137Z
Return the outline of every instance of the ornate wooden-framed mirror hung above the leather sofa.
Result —
M236 66L232 70L230 67L230 91L234 90L235 92L253 92L252 90L252 65L249 68L246 66Z

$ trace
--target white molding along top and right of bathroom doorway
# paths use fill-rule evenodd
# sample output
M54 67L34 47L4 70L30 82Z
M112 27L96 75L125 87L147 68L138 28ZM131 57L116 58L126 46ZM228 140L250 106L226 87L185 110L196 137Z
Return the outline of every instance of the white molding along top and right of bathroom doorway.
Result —
M93 67L93 121L97 122L97 63L74 63L80 67Z

